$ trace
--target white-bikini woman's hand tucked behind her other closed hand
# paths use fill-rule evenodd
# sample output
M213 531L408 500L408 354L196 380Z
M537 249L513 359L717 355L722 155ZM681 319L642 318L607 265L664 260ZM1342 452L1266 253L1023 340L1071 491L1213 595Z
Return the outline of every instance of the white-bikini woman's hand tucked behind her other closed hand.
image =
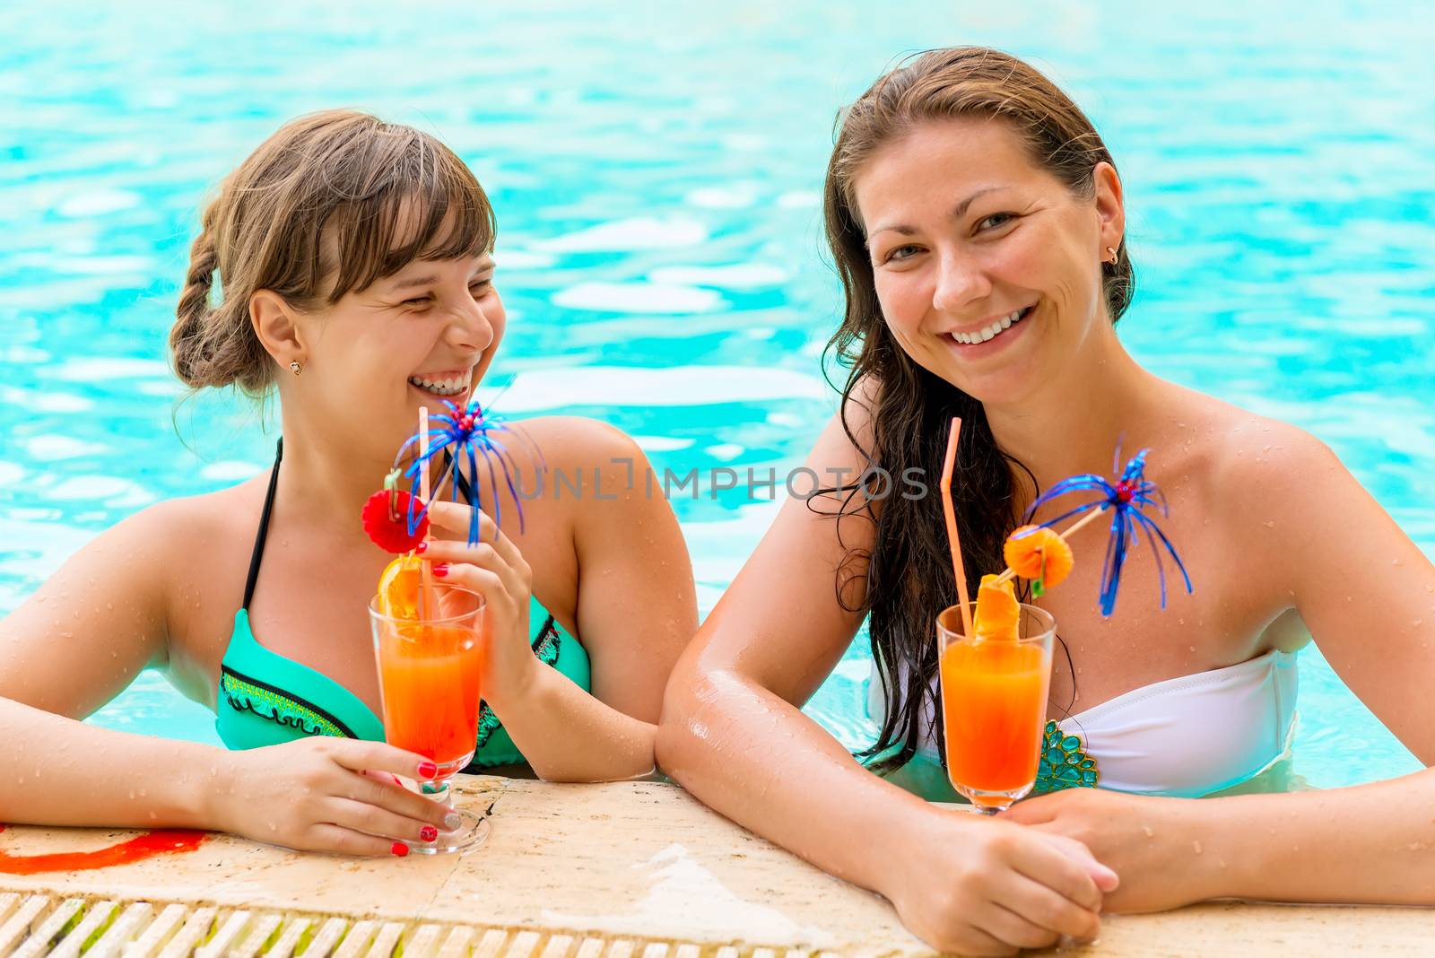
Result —
M1234 868L1215 842L1203 842L1210 799L1161 799L1102 789L1066 789L1020 802L1002 817L1075 839L1121 876L1109 911L1148 912L1218 896L1213 883Z

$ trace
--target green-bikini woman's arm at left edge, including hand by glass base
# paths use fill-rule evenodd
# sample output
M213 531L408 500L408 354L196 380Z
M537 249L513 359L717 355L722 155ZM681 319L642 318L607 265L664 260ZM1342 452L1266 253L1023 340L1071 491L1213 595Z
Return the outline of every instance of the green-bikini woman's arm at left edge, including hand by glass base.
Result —
M364 774L422 777L422 756L383 743L227 751L79 721L165 661L188 508L162 503L100 533L0 620L0 820L204 827L360 855L402 853L393 839L442 826L442 806Z

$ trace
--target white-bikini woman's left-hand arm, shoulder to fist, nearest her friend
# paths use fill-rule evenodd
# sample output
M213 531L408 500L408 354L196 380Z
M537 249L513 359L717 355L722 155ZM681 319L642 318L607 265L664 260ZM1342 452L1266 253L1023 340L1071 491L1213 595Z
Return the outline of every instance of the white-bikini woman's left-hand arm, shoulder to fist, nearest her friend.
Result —
M837 419L806 462L819 476L855 478L862 465ZM802 714L862 618L838 602L837 571L847 549L871 546L871 523L842 519L842 541L837 528L802 501L782 505L669 680L659 763L718 812L887 896L938 948L1010 954L1093 935L1092 875L1108 873L1085 849L938 810Z

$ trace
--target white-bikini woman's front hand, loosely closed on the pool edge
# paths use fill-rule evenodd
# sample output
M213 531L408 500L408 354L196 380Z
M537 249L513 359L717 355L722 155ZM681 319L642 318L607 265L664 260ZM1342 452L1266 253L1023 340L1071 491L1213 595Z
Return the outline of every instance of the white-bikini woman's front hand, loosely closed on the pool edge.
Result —
M1079 842L1009 822L931 809L883 889L903 924L941 951L1012 955L1101 929L1116 875ZM900 850L898 850L900 852Z

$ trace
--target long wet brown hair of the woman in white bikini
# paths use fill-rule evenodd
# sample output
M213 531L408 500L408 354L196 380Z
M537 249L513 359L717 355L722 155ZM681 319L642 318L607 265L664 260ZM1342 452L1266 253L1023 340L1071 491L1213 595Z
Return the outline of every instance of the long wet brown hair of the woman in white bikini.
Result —
M893 337L877 300L867 232L854 198L854 179L883 146L916 126L956 118L1006 123L1032 161L1063 182L1073 195L1095 195L1096 163L1115 163L1085 113L1049 79L1015 56L989 47L928 50L878 79L838 118L837 143L827 169L824 215L847 310L828 343L848 367L842 387L844 427L858 449L888 475L918 468L927 495L891 495L868 503L860 486L845 489L838 523L862 518L875 525L871 552L850 551L838 574L838 601L871 615L872 657L883 683L885 718L875 744L864 754L877 770L905 764L916 753L923 706L936 708L931 680L937 670L936 614L956 604L947 552L941 475L947 427L961 417L953 480L953 505L961 528L967 588L974 595L982 571L1006 565L1002 545L1017 525L1017 512L1035 492L1030 470L996 443L982 403L927 371ZM1106 314L1115 323L1131 304L1134 272L1122 241L1116 262L1102 262ZM847 425L854 393L870 386L871 447ZM1017 472L1026 480L1019 483ZM841 529L841 525L839 525ZM865 575L861 605L850 598L852 575ZM938 750L941 723L930 730Z

